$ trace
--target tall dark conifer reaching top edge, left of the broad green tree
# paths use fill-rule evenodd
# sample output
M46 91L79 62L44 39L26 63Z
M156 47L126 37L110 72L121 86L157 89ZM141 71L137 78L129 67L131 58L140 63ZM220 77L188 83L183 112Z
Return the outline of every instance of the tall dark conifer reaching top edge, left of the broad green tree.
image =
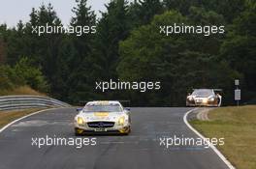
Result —
M126 0L111 1L106 7L107 12L102 13L102 18L97 24L93 52L85 61L89 63L86 71L88 72L87 81L91 89L87 96L98 99L116 99L116 93L105 93L103 95L95 91L95 81L118 78L116 72L119 62L118 42L128 37L131 26L129 25L128 2Z

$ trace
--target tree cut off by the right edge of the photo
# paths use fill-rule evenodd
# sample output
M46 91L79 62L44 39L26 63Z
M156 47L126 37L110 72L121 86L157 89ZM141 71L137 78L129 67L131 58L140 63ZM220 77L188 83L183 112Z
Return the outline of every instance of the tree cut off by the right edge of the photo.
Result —
M246 10L234 20L227 39L221 46L221 57L234 70L243 74L241 88L244 100L255 100L256 95L256 3L247 1Z

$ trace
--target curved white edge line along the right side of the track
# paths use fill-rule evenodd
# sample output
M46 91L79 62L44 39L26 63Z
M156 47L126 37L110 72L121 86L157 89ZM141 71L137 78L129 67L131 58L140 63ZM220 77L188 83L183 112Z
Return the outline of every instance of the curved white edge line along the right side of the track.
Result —
M187 122L187 116L189 113L193 112L194 110L196 110L197 108L194 108L192 110L189 110L188 112L186 112L186 114L183 117L183 121L186 124L187 127L189 127L192 131L194 131L199 137L201 137L202 139L206 140L206 137L204 135L202 135L201 133L199 133L194 127L192 127L188 122ZM215 146L213 146L210 142L208 142L209 147L222 159L222 161L230 168L230 169L236 169L231 162L224 156L222 155Z

